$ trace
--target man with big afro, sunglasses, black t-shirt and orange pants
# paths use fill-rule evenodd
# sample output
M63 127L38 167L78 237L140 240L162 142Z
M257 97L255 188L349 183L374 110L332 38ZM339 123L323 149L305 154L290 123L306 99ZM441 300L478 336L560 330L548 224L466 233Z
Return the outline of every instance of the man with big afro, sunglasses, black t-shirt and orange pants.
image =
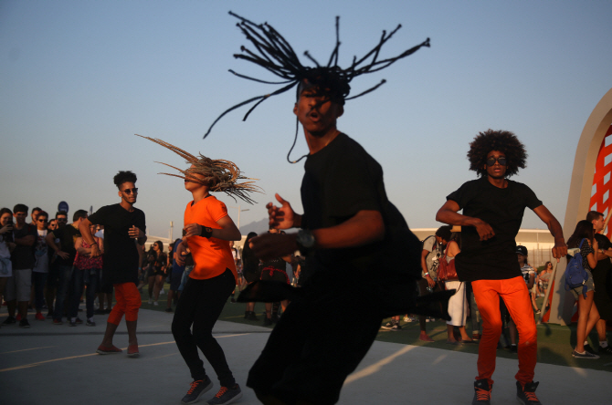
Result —
M474 405L488 405L495 370L497 342L501 335L500 297L519 330L519 371L515 378L517 399L525 405L540 404L533 381L537 361L537 330L529 291L516 260L516 234L526 207L546 223L554 236L553 255L567 254L561 224L535 193L509 177L526 167L524 145L506 130L480 132L470 143L470 170L480 176L447 196L436 220L461 225L461 253L455 257L460 281L471 282L482 317L478 376ZM463 210L462 214L459 210Z

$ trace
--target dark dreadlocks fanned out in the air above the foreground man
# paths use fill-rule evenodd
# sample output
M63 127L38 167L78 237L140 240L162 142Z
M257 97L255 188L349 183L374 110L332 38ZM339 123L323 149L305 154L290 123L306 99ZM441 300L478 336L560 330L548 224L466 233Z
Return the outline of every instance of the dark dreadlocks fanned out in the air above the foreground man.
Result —
M250 104L255 102L255 105L248 109L242 120L247 120L248 115L253 111L253 109L257 108L260 103L264 100L268 99L271 96L276 96L285 91L290 90L290 88L295 87L296 85L307 80L312 86L318 89L318 91L339 103L340 105L344 105L344 101L348 99L356 99L358 97L364 96L365 94L374 91L376 88L379 88L385 83L385 79L381 80L377 85L372 88L368 88L367 90L359 93L356 96L351 98L347 98L349 92L351 91L350 83L353 78L364 75L366 73L374 73L378 70L382 70L387 68L388 66L395 63L397 60L412 55L417 52L420 47L429 47L429 38L427 40L416 47L411 47L405 52L401 53L396 57L389 57L382 60L378 60L379 53L383 45L385 45L386 41L388 41L394 34L396 34L397 30L401 28L401 25L398 25L396 29L391 31L390 33L386 33L383 31L383 35L381 36L378 45L372 48L369 52L367 52L364 57L353 57L353 63L348 68L340 68L338 66L338 50L340 48L340 17L336 16L336 45L333 48L332 55L327 62L327 65L322 66L319 62L311 57L308 51L304 52L304 56L309 58L311 62L315 64L315 67L305 67L301 64L300 59L296 55L296 53L291 48L289 42L280 35L280 33L274 29L273 26L270 26L268 23L264 24L255 24L249 21L246 18L241 16L237 16L236 14L229 12L230 16L235 16L238 20L237 27L240 31L247 37L248 41L251 42L253 47L255 47L255 51L251 51L247 47L240 47L240 50L243 52L242 54L235 54L234 57L238 59L244 59L248 62L252 62L261 68L267 69L273 75L281 78L281 81L266 81L261 80L259 78L250 78L245 75L241 75L236 73L233 70L229 70L232 74L236 75L239 78L247 78L248 80L254 80L259 83L267 83L274 85L284 85L281 88L278 88L272 93L265 94L262 96L254 97L252 99L245 100L241 103L238 103L234 107L225 110L220 116L218 116L215 121L212 123L210 128L204 134L204 138L208 136L210 131L215 126L216 122L223 118L229 111L242 107L246 104ZM300 97L300 88L298 87L298 98ZM298 133L298 125L296 121L296 139ZM293 146L295 146L295 140L293 140ZM290 161L289 156L291 151L293 150L293 146L287 155L287 160ZM295 163L297 161L290 161Z

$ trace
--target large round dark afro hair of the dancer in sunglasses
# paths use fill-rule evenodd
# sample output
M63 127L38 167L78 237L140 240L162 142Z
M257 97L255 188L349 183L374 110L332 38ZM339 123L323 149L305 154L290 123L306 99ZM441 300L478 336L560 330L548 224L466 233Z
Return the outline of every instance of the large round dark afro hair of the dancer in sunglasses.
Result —
M476 171L480 177L487 175L485 166L487 154L491 151L501 151L506 155L506 177L511 177L519 169L527 167L527 151L525 145L508 130L486 130L479 132L470 142L468 160L470 171Z

